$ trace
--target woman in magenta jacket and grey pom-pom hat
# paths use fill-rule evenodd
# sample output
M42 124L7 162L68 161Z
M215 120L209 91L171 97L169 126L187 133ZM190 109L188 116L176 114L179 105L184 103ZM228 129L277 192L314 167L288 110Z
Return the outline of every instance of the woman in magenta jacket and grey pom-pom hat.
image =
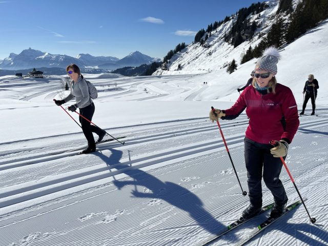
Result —
M279 58L276 48L264 50L257 60L252 86L241 93L230 109L215 109L217 116L210 112L211 120L234 119L246 109L250 118L244 139L250 205L242 213L244 219L255 216L261 210L262 174L275 201L270 216L281 216L288 201L279 179L282 162L277 157L286 157L299 120L291 89L278 84L275 77ZM276 147L269 144L271 140L276 140Z

